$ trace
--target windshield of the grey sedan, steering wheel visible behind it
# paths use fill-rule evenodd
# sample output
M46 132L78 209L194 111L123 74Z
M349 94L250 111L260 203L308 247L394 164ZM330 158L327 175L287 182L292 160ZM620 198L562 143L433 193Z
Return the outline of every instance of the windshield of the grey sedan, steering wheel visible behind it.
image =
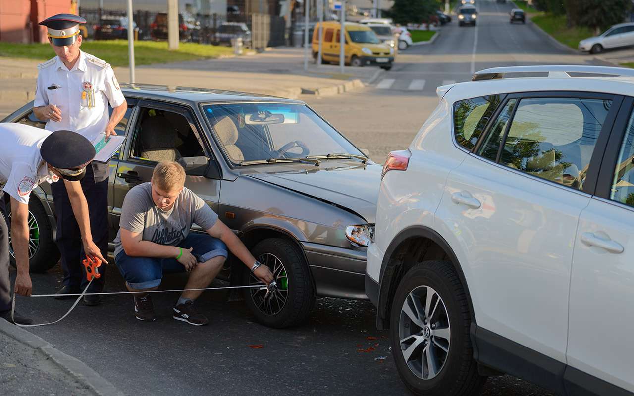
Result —
M204 105L203 110L234 165L328 153L363 155L304 105L231 103Z

